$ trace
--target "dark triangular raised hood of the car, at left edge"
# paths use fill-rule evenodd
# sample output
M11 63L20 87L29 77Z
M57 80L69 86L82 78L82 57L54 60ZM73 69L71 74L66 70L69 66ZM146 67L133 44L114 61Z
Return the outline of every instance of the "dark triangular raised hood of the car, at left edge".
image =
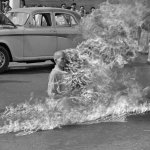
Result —
M16 25L2 12L0 12L0 29L1 28L16 28Z

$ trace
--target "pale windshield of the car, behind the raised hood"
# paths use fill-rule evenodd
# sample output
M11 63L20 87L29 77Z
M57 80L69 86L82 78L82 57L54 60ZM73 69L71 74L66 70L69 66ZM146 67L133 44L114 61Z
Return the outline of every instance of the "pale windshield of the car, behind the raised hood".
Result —
M8 12L6 14L6 16L16 26L23 26L26 23L26 21L27 21L27 19L29 17L29 14L28 13L24 13L24 12Z

